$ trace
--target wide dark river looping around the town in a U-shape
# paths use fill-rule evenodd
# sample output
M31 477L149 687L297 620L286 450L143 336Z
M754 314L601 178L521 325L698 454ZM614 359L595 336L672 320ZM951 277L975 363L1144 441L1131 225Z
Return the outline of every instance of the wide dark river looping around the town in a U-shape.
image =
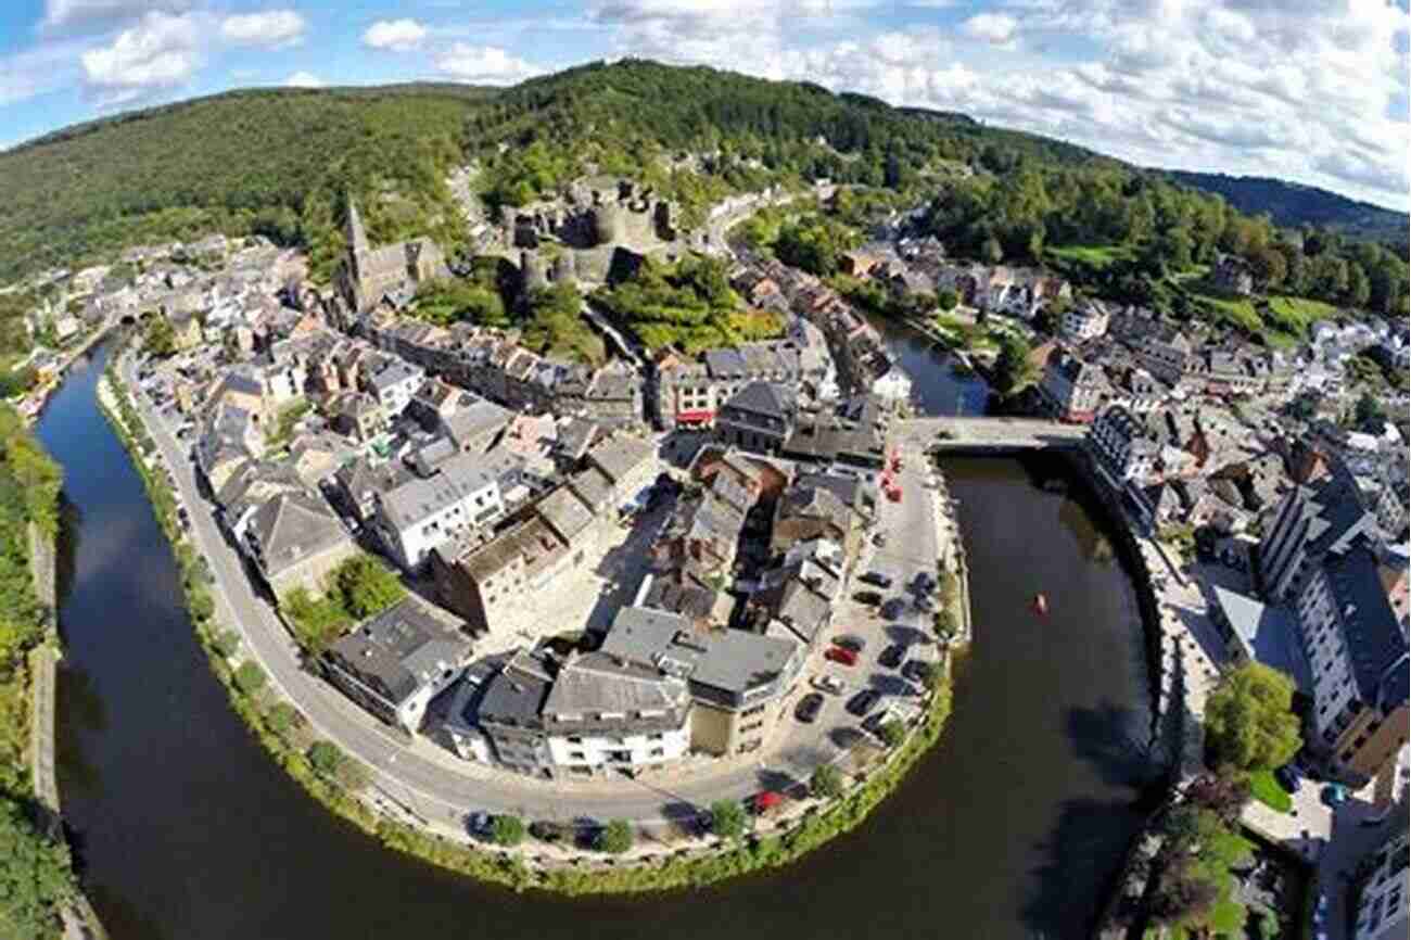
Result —
M97 411L95 350L38 435L65 467L59 785L114 940L1077 937L1139 824L1150 768L1130 579L1046 460L947 467L976 632L937 745L856 831L700 892L569 900L389 854L267 758L210 675L141 480ZM913 363L919 384L934 377ZM927 394L941 395L944 390ZM1048 618L1029 610L1046 590Z

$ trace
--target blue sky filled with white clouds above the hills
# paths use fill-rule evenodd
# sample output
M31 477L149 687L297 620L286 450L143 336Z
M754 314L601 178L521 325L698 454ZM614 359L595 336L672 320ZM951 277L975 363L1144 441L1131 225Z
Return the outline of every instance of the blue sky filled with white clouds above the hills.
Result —
M0 147L231 88L646 56L1411 207L1408 0L0 0Z

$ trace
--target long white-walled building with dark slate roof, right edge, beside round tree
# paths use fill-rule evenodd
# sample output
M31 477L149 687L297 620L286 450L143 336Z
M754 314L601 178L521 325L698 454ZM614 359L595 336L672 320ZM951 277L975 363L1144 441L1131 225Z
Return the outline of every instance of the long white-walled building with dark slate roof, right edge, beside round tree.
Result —
M1408 728L1408 645L1379 573L1356 545L1328 552L1297 596L1314 675L1309 745L1360 788L1395 759Z

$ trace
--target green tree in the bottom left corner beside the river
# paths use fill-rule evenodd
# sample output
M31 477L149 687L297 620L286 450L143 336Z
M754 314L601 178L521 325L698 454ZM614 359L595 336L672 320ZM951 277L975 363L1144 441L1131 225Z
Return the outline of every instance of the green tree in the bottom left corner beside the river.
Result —
M58 908L73 892L68 845L45 836L20 803L0 796L0 933L7 940L59 936Z

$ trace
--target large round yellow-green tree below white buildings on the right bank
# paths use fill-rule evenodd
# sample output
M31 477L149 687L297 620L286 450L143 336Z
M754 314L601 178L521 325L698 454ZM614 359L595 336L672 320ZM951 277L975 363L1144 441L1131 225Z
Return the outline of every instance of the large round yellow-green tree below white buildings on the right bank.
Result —
M1292 699L1292 679L1263 663L1225 673L1205 703L1205 744L1213 762L1253 772L1292 758L1302 747Z

